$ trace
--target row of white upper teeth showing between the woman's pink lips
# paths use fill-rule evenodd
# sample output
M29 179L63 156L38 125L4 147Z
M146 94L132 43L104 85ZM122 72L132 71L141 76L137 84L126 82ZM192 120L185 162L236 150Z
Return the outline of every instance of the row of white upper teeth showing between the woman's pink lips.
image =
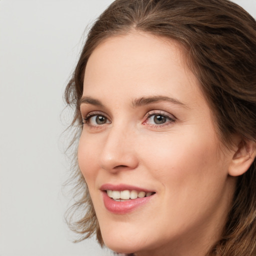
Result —
M125 201L130 199L142 198L152 195L154 192L145 192L137 190L106 190L108 197L115 201Z

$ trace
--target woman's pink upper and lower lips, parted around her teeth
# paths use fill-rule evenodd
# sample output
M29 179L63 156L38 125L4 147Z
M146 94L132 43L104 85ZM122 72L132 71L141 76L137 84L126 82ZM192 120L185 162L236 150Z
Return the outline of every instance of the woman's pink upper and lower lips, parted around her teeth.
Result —
M106 209L112 213L116 214L125 214L128 213L137 207L144 205L147 203L149 200L151 200L152 195L147 196L147 197L142 197L142 198L136 198L136 199L129 199L125 201L115 201L112 198L110 198L105 190L137 190L137 191L145 191L145 192L152 192L152 190L148 190L145 188L141 187L136 187L136 186L131 186L131 185L126 185L126 184L103 184L100 189L102 190L102 196L103 196L103 202L106 207Z

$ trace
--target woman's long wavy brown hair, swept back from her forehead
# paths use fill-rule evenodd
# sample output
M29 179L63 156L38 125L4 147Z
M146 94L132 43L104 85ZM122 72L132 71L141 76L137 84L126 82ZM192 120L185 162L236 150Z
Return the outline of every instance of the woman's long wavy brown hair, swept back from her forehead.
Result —
M256 140L256 22L229 0L114 1L91 27L65 89L65 100L74 107L71 125L77 126L77 137L81 130L79 99L89 56L106 38L129 33L131 29L175 39L183 46L186 64L200 82L224 145L232 144L232 134ZM80 234L78 240L96 233L103 245L87 186L76 162L74 158L76 202L67 214L69 226ZM254 256L255 238L254 159L238 177L226 225L208 255Z

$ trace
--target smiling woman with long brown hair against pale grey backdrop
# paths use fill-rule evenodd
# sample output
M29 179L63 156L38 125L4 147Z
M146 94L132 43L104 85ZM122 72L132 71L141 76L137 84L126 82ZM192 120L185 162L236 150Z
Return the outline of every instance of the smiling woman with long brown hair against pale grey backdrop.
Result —
M227 0L116 0L99 16L65 91L80 240L256 255L255 59L256 22Z

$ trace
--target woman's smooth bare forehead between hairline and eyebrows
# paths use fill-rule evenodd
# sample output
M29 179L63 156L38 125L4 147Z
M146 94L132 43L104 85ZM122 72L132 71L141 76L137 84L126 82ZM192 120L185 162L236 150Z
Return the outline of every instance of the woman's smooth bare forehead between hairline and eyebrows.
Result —
M181 45L145 32L107 38L90 55L83 95L104 98L109 92L130 98L182 95L183 101L202 96L198 80L185 65Z

